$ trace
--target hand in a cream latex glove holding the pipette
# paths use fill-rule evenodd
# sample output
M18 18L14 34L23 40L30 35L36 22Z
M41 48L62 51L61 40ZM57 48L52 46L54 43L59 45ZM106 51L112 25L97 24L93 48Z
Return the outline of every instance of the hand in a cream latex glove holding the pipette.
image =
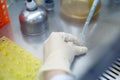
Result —
M44 64L40 72L62 70L72 74L70 66L73 58L87 51L87 47L73 35L53 32L44 42Z

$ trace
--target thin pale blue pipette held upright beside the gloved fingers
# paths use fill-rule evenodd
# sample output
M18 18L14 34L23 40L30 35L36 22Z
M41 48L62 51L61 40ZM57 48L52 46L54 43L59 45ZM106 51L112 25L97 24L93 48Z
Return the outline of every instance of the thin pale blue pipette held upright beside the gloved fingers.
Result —
M83 30L82 30L82 33L81 33L81 38L82 38L82 41L84 42L84 45L86 44L86 33L88 31L88 25L92 19L92 16L93 16L93 13L97 7L97 4L98 4L99 0L94 0L93 4L92 4L92 7L90 9L90 12L88 14L88 17L85 21L85 24L84 24L84 27L83 27Z

